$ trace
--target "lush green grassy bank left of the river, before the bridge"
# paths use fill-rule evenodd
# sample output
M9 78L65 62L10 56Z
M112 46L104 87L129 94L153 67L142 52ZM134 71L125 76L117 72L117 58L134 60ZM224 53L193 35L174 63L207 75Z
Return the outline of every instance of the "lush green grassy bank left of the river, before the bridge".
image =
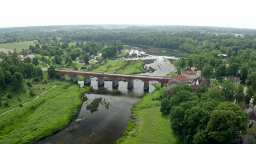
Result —
M82 105L89 87L71 83L59 85L33 103L0 117L0 143L33 143L66 127Z

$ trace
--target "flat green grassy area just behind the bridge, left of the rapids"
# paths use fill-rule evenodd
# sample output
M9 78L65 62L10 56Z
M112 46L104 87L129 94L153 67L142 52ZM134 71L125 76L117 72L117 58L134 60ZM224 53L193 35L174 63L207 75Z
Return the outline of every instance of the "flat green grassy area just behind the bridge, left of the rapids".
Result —
M110 73L121 73L121 74L138 74L146 73L147 69L144 68L145 62L143 61L107 61L106 64L94 69L93 71L103 71Z

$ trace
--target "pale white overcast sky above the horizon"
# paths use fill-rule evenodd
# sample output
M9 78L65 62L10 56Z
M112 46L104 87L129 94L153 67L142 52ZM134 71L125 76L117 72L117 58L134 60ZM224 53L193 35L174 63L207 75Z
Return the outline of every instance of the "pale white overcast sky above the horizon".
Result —
M3 0L0 27L139 24L256 29L256 0Z

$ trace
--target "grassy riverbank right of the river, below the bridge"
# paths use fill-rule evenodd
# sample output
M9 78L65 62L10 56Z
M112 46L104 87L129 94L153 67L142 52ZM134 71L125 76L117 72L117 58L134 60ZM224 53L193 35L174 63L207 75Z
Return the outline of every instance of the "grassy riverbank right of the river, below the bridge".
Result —
M172 133L168 115L160 112L161 98L166 94L166 86L155 85L153 93L147 93L133 104L132 121L128 123L125 135L117 143L177 143L179 136Z

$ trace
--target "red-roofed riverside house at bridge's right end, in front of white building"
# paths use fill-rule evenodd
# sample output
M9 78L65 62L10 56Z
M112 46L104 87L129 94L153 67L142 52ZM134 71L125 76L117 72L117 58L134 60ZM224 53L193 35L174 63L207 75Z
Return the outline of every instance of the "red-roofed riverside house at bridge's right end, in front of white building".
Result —
M168 87L166 88L167 98L172 96L172 88L177 85L177 83L188 83L188 76L182 75L172 75L171 79L168 81Z

